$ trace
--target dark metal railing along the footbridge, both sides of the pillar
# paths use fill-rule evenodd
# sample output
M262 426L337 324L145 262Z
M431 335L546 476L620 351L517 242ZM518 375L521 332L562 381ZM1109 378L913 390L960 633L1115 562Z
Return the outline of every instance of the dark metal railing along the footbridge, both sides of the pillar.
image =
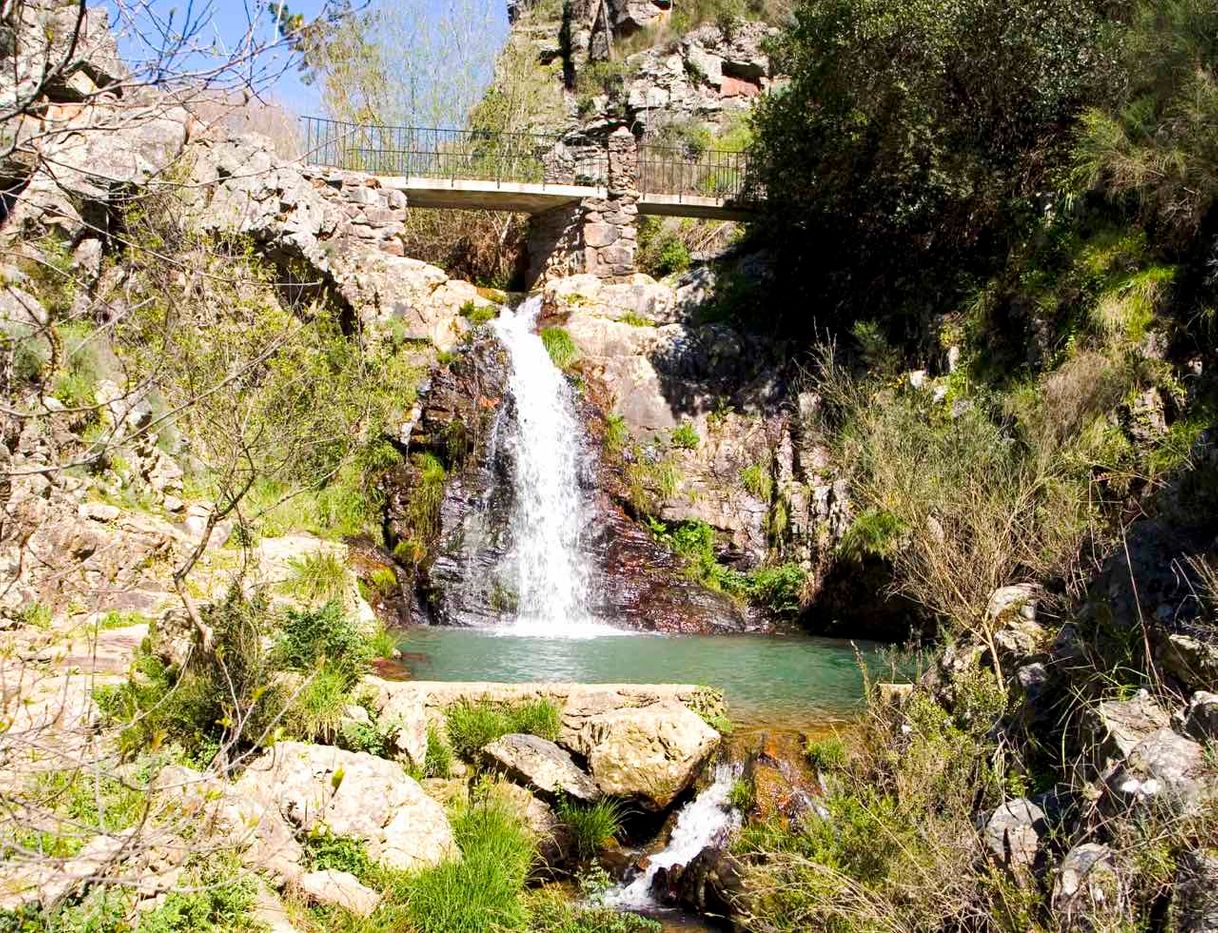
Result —
M302 117L304 161L314 166L409 178L594 185L609 183L604 146L558 134L384 127ZM715 149L638 146L641 194L752 200L748 157Z

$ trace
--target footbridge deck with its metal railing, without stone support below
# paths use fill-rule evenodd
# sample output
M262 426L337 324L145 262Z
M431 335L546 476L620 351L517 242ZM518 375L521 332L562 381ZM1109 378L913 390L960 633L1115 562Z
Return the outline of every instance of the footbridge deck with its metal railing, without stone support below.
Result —
M626 191L639 214L743 220L754 206L743 152L322 117L302 124L306 163L375 175L412 207L543 214Z

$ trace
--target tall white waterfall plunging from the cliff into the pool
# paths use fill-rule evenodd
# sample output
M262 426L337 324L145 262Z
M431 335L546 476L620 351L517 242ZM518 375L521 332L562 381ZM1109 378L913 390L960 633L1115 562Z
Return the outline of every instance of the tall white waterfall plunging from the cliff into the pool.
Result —
M493 322L508 351L515 430L510 572L516 583L513 635L604 631L590 621L588 563L581 536L588 516L580 487L581 429L571 387L533 333L541 296ZM609 630L614 631L614 630Z

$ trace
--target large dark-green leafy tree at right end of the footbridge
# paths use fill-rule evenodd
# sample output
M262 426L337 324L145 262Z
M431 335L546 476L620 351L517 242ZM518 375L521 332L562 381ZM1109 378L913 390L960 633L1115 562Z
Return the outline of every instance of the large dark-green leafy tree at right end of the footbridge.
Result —
M879 296L942 307L1001 255L1106 55L1101 4L1073 0L806 1L775 54L789 84L756 108L755 180L822 325Z

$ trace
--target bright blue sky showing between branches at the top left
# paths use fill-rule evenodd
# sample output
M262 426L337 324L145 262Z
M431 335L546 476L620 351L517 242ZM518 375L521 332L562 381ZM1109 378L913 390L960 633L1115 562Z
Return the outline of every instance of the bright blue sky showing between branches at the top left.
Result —
M373 2L395 5L395 0L373 0ZM446 0L417 0L417 2L436 19L447 6ZM485 10L492 15L495 33L491 38L502 44L508 26L505 0L476 0L476 2L487 5ZM150 45L147 37L151 37L151 44L155 44L158 32L171 23L174 29L181 29L181 24L188 21L195 26L194 37L199 51L186 61L186 67L192 69L206 68L208 61L224 61L230 50L240 45L251 24L259 38L269 40L274 37L272 17L261 0L145 0L144 6L140 21L130 23L121 40L121 51L133 65L147 61ZM323 9L324 0L289 0L287 6L292 12L312 18ZM113 18L113 7L111 11ZM139 33L144 33L144 38ZM409 54L408 50L402 52ZM318 89L302 79L285 50L276 50L259 65L262 74L268 76L259 89L263 96L283 104L297 114L320 111ZM437 74L436 80L442 82L445 77Z

